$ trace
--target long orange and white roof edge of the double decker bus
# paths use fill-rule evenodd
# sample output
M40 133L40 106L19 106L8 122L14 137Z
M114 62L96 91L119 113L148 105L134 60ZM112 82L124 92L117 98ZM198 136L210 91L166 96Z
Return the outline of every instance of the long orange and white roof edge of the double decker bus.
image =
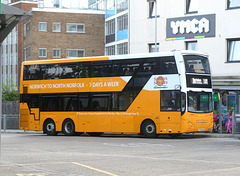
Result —
M87 62L87 61L104 61L104 60L119 60L119 59L134 59L134 58L152 58L152 57L164 57L174 56L175 52L181 52L183 55L201 55L207 57L208 55L199 51L191 50L172 50L169 52L155 52L155 53L139 53L139 54L126 54L126 55L114 55L114 56L94 56L94 57L81 57L81 58L62 58L62 59L46 59L46 60L32 60L24 61L23 65L35 65L35 64L54 64L54 63L69 63L69 62Z

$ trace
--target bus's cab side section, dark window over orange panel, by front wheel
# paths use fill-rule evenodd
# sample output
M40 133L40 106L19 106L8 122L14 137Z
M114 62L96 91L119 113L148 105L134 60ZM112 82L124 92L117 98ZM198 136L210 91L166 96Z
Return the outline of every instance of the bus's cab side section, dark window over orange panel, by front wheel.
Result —
M180 133L180 90L163 90L160 96L160 133Z

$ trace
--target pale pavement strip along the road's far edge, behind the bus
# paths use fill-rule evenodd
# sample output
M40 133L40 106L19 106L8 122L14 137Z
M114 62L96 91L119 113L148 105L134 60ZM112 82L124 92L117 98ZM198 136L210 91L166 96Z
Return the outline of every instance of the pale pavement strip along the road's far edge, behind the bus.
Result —
M20 129L1 130L1 133L43 134L42 131L25 131L25 130L20 130ZM110 134L112 134L112 133L110 133ZM132 135L136 135L136 134L132 134ZM186 135L204 135L204 136L213 137L213 138L235 138L235 139L240 139L240 133L231 134L231 133L213 133L212 132L212 133L188 133Z

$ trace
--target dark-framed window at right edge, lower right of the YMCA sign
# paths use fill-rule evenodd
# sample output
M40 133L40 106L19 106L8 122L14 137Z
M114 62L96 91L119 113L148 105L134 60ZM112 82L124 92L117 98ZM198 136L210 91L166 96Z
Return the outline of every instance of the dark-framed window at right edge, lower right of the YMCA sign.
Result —
M228 40L228 62L240 61L240 39Z

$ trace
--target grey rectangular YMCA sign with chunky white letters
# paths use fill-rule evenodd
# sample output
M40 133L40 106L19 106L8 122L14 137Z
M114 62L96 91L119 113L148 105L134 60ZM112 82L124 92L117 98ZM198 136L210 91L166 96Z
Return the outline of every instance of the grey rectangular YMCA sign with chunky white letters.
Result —
M215 14L167 19L167 40L215 37Z

